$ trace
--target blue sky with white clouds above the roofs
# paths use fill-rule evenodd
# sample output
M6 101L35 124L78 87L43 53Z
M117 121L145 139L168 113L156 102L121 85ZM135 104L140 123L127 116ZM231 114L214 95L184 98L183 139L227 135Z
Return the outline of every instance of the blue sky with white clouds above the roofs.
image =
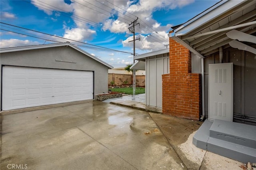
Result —
M217 2L0 0L0 47L71 42L114 67L125 67L133 62L133 42L129 42L133 36L128 27L137 17L135 35L140 41L136 40L135 49L142 54L166 48L171 26L190 20Z

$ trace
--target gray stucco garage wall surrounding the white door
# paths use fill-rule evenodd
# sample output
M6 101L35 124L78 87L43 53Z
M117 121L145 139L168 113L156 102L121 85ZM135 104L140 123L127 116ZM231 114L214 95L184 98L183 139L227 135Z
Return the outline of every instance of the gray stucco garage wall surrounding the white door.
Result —
M0 65L94 71L94 95L108 92L108 67L69 46L1 53Z

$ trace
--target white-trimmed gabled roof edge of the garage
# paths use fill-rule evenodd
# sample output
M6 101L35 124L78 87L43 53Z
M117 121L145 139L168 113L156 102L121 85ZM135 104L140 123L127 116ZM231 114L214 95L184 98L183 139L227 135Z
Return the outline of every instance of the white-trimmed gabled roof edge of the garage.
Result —
M98 59L97 57L94 57L90 53L87 53L86 51L76 47L75 45L73 45L72 43L69 43L69 42L43 44L43 45L30 45L30 46L23 46L23 47L2 48L2 49L0 49L0 53L8 53L8 52L15 52L15 51L25 51L25 50L32 50L32 49L44 49L44 48L61 47L61 46L72 47L72 48L76 49L77 51L80 51L84 55L87 55L88 57L91 57L92 59L98 61L99 63L102 63L103 65L107 66L109 69L113 68L112 65L109 65L108 63Z

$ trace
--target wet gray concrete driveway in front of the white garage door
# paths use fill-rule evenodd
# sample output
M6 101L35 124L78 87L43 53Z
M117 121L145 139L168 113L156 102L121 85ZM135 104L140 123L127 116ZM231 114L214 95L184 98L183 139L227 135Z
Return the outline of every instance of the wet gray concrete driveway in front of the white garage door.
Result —
M13 165L186 169L148 112L94 100L1 116L1 169Z

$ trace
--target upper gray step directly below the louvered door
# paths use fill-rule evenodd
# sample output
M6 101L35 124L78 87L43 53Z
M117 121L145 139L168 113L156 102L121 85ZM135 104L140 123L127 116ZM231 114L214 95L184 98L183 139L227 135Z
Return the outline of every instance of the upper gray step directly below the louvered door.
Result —
M210 138L256 149L256 126L215 119L210 127Z

